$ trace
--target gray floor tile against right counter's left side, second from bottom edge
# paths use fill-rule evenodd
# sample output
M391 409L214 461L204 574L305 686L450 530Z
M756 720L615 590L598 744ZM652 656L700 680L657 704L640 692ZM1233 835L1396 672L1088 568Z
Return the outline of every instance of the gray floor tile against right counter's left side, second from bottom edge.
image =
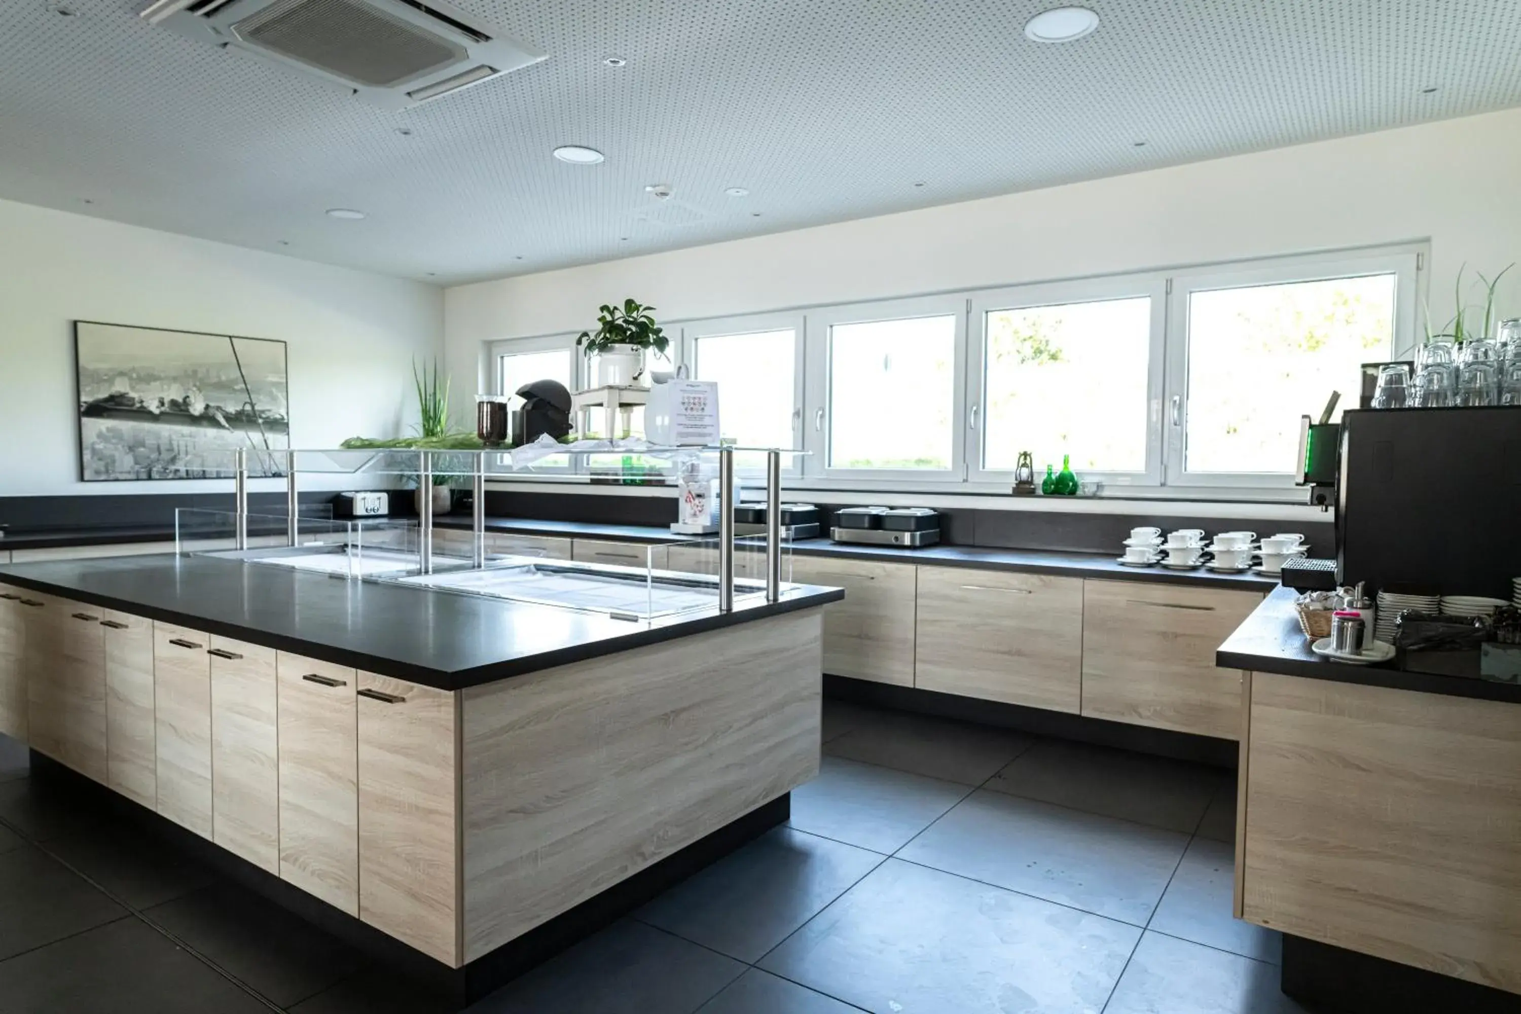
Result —
M1196 838L1167 885L1150 929L1278 964L1282 959L1282 935L1234 918L1234 888L1235 848Z

